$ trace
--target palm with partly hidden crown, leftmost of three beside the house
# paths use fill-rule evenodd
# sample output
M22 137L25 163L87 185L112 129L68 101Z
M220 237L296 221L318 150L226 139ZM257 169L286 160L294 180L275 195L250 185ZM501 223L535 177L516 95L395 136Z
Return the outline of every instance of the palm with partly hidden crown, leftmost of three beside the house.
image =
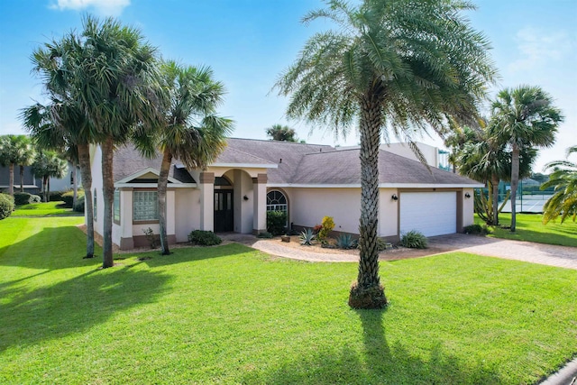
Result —
M34 69L42 74L43 78L58 76L50 66L50 50L37 50L33 55ZM54 150L67 154L69 160L74 160L80 168L82 186L85 188L85 207L87 215L87 253L84 258L94 257L94 210L92 200L92 170L90 168L89 142L96 138L90 132L87 119L70 100L65 100L69 91L66 84L57 85L46 80L45 87L50 94L50 104L36 103L23 108L20 118L24 128L32 133L32 139L37 146L44 150ZM50 86L51 85L51 86ZM76 189L77 180L74 177ZM76 206L76 198L75 204Z

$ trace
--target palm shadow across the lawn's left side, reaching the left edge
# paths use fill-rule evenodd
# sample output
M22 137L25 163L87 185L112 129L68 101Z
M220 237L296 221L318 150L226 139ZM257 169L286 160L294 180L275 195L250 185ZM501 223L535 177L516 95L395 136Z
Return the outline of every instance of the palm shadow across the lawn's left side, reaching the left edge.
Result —
M158 301L170 275L133 269L140 263L90 270L34 289L1 290L0 352L82 332L116 313Z

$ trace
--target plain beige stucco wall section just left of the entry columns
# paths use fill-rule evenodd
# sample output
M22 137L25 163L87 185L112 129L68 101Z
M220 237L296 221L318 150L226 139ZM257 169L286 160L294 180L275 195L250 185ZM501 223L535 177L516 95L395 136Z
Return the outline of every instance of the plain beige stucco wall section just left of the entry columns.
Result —
M188 234L200 228L200 191L196 188L178 188L175 198L177 242L187 242Z

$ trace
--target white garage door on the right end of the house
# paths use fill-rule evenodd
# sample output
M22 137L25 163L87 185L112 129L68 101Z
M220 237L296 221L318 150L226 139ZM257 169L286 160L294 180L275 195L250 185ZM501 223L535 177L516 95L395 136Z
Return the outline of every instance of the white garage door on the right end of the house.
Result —
M404 192L399 201L401 234L411 230L426 236L457 232L456 192Z

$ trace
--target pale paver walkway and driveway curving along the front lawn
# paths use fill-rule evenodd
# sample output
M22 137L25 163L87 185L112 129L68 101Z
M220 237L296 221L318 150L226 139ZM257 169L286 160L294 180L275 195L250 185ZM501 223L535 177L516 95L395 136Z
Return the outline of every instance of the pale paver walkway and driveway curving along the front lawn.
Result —
M359 261L358 255L347 253L320 253L308 251L306 247L294 248L283 245L279 240L260 240L252 235L230 234L230 241L245 243L261 252L301 261L352 262ZM510 241L466 234L449 234L428 239L430 253L426 251L403 251L387 254L386 259L401 259L414 256L434 255L441 252L471 252L508 260L527 261L549 266L577 270L577 247L554 246L542 243ZM418 254L416 254L416 252ZM385 255L383 254L383 255ZM385 259L383 257L383 259Z

